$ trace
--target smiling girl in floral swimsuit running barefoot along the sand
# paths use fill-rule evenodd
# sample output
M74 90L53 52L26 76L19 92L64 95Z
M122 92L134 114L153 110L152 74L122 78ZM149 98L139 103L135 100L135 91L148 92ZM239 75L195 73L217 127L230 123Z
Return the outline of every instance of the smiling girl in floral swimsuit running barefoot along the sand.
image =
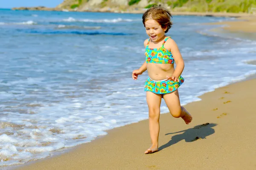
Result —
M140 69L132 72L132 78L148 70L145 82L146 100L148 104L149 131L152 145L145 154L158 151L160 104L163 98L175 118L183 118L186 124L192 116L180 106L178 87L183 84L181 73L184 61L172 38L165 33L172 27L172 14L161 6L152 6L142 16L143 24L149 39L144 41L146 61ZM174 68L174 61L176 69Z

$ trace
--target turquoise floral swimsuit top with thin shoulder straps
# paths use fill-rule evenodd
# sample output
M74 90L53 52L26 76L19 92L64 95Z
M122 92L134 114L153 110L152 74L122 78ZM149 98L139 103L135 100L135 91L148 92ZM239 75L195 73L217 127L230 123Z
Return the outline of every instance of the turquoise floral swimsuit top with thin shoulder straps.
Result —
M164 48L164 43L168 38L163 41L163 45L158 49L150 49L148 48L150 38L148 39L148 43L145 49L145 56L147 63L160 63L160 64L173 64L174 58L172 56L172 52L169 52L166 48Z

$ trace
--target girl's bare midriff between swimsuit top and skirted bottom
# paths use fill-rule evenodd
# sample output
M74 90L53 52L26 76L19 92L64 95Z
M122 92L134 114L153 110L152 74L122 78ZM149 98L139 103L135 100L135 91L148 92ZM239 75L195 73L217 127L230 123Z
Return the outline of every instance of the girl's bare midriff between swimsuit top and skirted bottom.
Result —
M164 80L174 72L173 64L147 63L148 76L152 80Z

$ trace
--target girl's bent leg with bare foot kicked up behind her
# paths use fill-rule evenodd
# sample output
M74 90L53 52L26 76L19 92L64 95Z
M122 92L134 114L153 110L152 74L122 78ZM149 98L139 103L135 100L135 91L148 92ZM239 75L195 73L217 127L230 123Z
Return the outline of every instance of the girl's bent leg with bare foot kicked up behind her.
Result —
M178 90L163 95L163 99L173 117L183 118L186 124L189 124L192 121L192 116L189 114L189 112L187 112L184 107L180 107Z

